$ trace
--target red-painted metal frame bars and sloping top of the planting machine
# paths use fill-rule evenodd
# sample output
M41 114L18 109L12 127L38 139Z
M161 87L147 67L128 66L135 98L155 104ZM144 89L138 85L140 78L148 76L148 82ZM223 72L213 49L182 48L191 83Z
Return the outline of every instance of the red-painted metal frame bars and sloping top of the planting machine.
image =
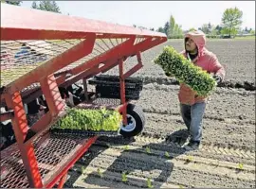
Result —
M73 155L72 160L64 166L62 171L56 172L49 183L43 184L33 141L43 131L46 131L64 111L64 101L60 96L58 86L67 86L82 79L84 90L87 91L85 84L87 78L104 73L119 65L121 96L119 112L122 113L123 123L126 124L128 102L125 100L125 78L130 77L142 67L140 53L159 43L166 42L166 35L132 26L113 25L36 9L25 9L6 4L1 4L1 7L1 41L83 39L81 43L66 50L61 55L46 61L43 65L9 83L4 94L1 94L1 101L5 100L8 108L14 113L14 116L11 113L1 114L1 121L11 118L17 144L26 168L29 186L51 188L59 181L59 187L63 187L67 171L97 140L97 136L90 138L86 144L83 144L79 152ZM35 20L40 22L35 23ZM109 38L126 38L128 40L73 69L56 74L65 66L89 55L93 51L97 39ZM144 38L144 40L135 44L137 38ZM137 65L124 73L123 61L134 55L137 55ZM100 67L101 63L103 66ZM71 74L73 77L66 78L66 74ZM35 82L39 82L41 86L21 94L24 88ZM25 141L28 128L23 103L40 94L45 94L49 112L32 126L31 130L35 132L35 135ZM25 97L26 100L24 100Z

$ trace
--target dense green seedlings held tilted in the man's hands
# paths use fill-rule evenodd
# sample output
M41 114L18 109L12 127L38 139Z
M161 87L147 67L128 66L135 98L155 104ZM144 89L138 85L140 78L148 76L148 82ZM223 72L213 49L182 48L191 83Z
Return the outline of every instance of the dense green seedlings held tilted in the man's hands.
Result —
M167 76L174 76L180 83L185 83L199 96L209 95L216 86L215 80L201 67L176 52L174 47L165 46L155 59Z

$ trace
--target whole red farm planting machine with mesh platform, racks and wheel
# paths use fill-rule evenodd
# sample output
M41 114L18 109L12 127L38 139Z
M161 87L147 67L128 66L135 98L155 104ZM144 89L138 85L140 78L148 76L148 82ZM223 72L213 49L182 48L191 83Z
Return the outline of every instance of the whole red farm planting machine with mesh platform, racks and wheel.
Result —
M142 68L141 53L166 40L132 26L1 4L1 187L63 187L69 168L99 137L49 131L68 104L119 110L119 133L137 135L145 120L132 101L142 83L131 76ZM137 64L124 72L130 57ZM119 76L103 75L115 67ZM6 145L10 129L15 142Z

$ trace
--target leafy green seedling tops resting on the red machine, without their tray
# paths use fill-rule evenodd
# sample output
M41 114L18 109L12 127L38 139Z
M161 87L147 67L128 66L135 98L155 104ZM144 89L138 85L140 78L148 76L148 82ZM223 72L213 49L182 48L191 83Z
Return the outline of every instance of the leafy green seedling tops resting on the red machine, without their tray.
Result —
M106 109L68 109L67 114L57 121L52 129L81 129L93 131L116 131L122 116L117 111Z

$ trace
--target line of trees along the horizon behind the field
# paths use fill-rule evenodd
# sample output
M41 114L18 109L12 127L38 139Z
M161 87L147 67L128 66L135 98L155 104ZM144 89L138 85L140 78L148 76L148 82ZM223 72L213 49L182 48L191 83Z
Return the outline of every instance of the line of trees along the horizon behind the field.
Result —
M16 5L16 6L20 6L22 4L22 1L19 1L19 0L12 0L12 1L2 0L1 2L8 3L10 5ZM31 5L31 9L41 9L46 11L62 13L56 1L33 1ZM165 33L167 37L170 39L183 38L183 34L191 30L201 30L210 38L214 38L217 36L226 36L230 38L230 37L236 36L237 34L243 34L243 33L255 35L255 30L253 30L252 28L246 27L245 29L241 29L241 26L243 24L242 18L243 18L242 10L238 8L230 8L224 11L220 25L213 26L210 23L208 23L208 24L202 25L201 27L198 27L197 29L190 28L189 30L183 30L182 26L175 22L174 15L171 15L169 21L167 21L164 26L158 27L156 31ZM139 27L141 29L148 29L144 26L134 25L134 27ZM153 31L155 30L153 27L149 29Z

